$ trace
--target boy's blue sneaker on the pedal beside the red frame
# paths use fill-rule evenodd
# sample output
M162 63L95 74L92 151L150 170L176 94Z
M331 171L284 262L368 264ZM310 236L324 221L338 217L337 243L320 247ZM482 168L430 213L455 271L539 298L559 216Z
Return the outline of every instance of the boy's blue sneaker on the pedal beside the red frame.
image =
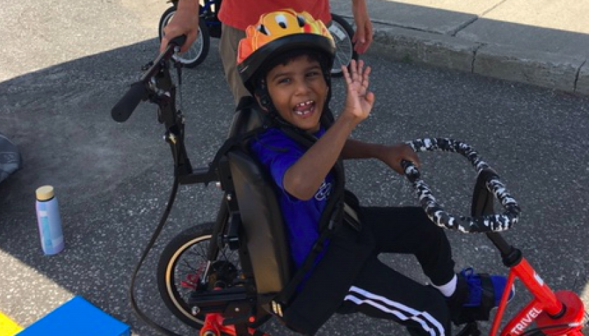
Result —
M501 302L506 283L505 276L475 273L471 267L462 269L456 290L447 300L452 321L456 325L488 321L490 311ZM515 293L511 286L508 300Z

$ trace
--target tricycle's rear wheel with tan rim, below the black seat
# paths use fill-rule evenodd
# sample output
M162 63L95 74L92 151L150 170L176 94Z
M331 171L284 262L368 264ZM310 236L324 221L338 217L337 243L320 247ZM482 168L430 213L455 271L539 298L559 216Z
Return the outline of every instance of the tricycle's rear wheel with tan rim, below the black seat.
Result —
M206 223L180 232L164 248L157 264L157 288L166 307L180 321L200 329L203 315L191 314L187 303L197 288L201 273L206 267L206 254L211 241L213 223ZM218 251L218 258L211 264L214 281L232 281L241 273L237 251L227 246ZM213 281L213 280L211 280ZM209 287L216 284L209 284ZM213 288L210 288L213 289Z

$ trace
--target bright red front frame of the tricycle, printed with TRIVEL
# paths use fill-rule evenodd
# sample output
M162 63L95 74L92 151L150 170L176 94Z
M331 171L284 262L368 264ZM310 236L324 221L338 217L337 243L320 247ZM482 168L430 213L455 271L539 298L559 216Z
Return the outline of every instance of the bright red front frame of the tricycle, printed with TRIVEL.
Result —
M554 293L525 258L511 267L506 288L513 286L516 277L534 297L505 325L501 335L522 335L534 321L539 328L546 328L542 330L546 335L582 335L579 330L583 319L583 303L575 293ZM506 291L499 303L489 335L497 335L508 297L509 291Z

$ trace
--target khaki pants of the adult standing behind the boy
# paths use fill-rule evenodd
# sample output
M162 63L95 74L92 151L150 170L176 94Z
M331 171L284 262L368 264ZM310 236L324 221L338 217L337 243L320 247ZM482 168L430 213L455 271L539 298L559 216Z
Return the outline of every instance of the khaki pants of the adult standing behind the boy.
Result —
M241 83L241 77L237 72L237 46L241 38L246 37L246 32L236 29L225 24L222 25L222 34L219 41L219 54L223 62L225 71L225 80L229 85L229 90L233 94L235 104L241 97L250 96L250 92Z

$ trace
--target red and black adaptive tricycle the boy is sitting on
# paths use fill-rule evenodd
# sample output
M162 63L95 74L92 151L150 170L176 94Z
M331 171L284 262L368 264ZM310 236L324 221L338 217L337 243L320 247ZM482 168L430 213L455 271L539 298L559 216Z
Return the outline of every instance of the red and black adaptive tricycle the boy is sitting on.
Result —
M143 76L112 110L113 119L122 123L142 100L157 104L158 120L164 124L164 139L174 162L173 188L166 209L129 287L132 305L148 325L176 335L137 307L135 275L166 223L178 186L216 183L222 190L216 220L188 228L166 244L156 270L159 293L172 314L199 330L201 336L267 335L260 328L273 316L281 318L285 302L276 297L288 288L293 271L275 190L246 146L248 137L263 127L262 116L255 104L238 106L229 137L213 160L204 167L192 167L185 148L185 120L176 109L177 87L170 74L171 57L183 44L182 38L173 39L145 66ZM461 141L425 138L408 144L416 152L445 151L469 160L477 179L471 216L460 217L440 206L415 165L402 165L432 225L486 235L509 269L508 288L519 279L532 295L532 300L502 325L508 300L508 295L503 295L490 335L583 335L586 313L579 295L572 290L553 291L523 253L500 235L518 223L520 208L490 165ZM500 212L495 211L495 203L501 205ZM459 335L481 335L481 331L473 321Z

